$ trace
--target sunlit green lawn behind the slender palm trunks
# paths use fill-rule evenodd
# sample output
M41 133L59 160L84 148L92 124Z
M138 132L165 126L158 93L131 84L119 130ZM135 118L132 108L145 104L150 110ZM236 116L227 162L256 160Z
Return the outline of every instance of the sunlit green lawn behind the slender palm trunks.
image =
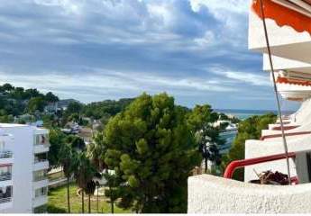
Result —
M76 184L70 184L70 210L71 213L81 213L81 197L77 194ZM106 202L106 198L99 196L99 212L111 213L110 203ZM85 212L88 211L88 199L85 195ZM91 197L91 209L92 213L97 212L96 208L96 196ZM66 185L58 188L50 189L48 212L49 213L66 213L67 212L67 187ZM131 213L131 210L123 210L114 205L114 213Z

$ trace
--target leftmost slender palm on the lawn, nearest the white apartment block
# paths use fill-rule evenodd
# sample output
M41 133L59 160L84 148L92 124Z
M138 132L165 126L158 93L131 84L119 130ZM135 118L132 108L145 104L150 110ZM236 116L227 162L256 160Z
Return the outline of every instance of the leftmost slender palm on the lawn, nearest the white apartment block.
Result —
M70 193L69 193L69 181L70 177L73 175L75 166L77 165L77 158L75 156L76 152L68 144L63 144L59 149L59 165L62 166L64 175L67 178L67 205L68 212L70 213Z

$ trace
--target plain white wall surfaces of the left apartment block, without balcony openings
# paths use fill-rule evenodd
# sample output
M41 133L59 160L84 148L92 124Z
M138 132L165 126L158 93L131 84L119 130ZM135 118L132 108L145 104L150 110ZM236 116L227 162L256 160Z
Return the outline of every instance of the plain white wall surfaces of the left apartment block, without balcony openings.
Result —
M33 192L36 186L48 185L48 181L33 182L34 168L48 168L48 162L41 162L34 165L34 135L47 133L48 130L37 130L35 127L18 124L0 124L5 133L12 134L14 143L11 150L14 154L14 163L12 166L13 178L13 206L0 209L0 213L32 213L33 206L37 204L37 198L34 198ZM49 148L46 148L49 150ZM39 199L47 202L47 197ZM41 203L41 202L40 202Z

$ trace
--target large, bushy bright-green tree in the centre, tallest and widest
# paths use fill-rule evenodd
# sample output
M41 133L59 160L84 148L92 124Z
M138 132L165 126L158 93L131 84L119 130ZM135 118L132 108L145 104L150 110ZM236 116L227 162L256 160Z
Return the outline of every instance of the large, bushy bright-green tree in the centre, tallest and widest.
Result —
M142 94L105 128L105 164L120 182L121 205L186 212L187 179L201 157L173 97Z

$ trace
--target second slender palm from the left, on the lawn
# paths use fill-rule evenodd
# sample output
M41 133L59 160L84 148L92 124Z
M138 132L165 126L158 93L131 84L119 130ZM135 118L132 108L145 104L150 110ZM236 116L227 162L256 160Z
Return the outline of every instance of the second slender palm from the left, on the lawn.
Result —
M82 213L84 213L84 193L87 190L87 183L92 181L95 174L94 166L84 152L78 152L78 166L75 170L75 177L78 186L81 189Z

